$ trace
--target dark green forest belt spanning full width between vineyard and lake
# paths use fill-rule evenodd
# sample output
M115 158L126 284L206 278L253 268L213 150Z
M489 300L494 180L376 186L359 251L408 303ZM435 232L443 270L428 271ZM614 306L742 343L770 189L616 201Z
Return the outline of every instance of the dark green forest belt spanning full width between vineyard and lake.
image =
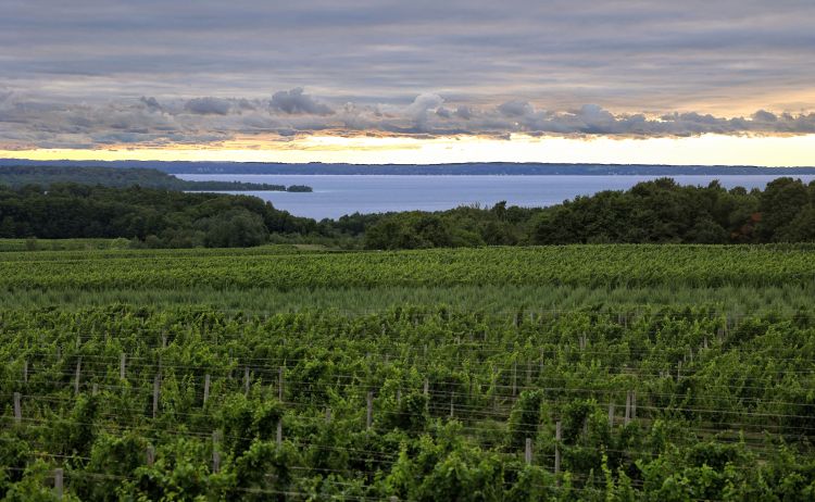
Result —
M114 170L115 171L115 170ZM318 194L315 194L318 197ZM314 243L423 249L568 243L768 243L815 240L815 184L764 190L670 178L548 208L461 206L316 222L246 196L57 184L0 187L0 238L122 238L133 247Z

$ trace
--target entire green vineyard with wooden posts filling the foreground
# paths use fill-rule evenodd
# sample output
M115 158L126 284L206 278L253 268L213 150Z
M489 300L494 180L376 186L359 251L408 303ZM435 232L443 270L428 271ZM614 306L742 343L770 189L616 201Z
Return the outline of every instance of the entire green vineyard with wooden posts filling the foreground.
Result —
M813 251L0 253L0 497L813 500Z

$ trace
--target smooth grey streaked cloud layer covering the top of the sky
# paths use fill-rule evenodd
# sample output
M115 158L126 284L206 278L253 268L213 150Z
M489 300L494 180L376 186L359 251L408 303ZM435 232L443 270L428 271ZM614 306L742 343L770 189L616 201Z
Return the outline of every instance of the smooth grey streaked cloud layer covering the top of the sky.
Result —
M321 89L322 102L297 89L272 98L292 115L404 105L432 89L448 110L504 103L506 113L511 101L717 116L815 108L812 0L102 3L3 2L0 92L89 103L146 95L164 106L190 89L248 99ZM202 114L241 110L223 104Z

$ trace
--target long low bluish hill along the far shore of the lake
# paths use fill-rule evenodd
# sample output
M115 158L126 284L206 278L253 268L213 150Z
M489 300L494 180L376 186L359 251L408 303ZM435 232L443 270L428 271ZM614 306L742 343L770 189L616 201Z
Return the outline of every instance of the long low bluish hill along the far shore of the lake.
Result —
M28 161L0 159L3 165L147 167L168 174L333 174L333 175L815 175L815 167L749 165L546 164L485 162L462 164L284 164L271 162Z

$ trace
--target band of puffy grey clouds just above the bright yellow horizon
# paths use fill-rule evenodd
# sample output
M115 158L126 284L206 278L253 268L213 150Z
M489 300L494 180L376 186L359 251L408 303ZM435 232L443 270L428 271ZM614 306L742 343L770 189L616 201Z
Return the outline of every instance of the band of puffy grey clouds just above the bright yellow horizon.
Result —
M684 137L703 134L815 134L815 113L758 110L724 117L701 112L613 113L599 104L540 110L523 99L500 105L459 104L438 93L409 104L347 101L331 106L302 89L253 98L164 99L142 97L105 103L49 101L4 95L0 100L0 148L91 148L199 145L253 135L289 138L329 135ZM330 112L330 113L328 113Z

